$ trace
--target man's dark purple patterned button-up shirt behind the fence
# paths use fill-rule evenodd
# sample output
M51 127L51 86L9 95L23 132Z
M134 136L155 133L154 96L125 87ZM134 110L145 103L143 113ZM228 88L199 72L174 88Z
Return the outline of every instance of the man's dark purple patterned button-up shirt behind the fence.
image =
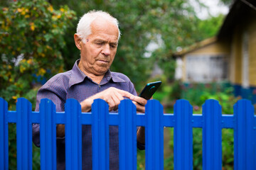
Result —
M38 90L36 111L39 111L39 103L42 98L53 101L56 111L64 111L65 101L68 98L74 98L81 102L110 87L122 89L137 96L132 81L124 74L109 70L100 84L97 84L79 69L79 61L75 62L73 69L55 75ZM33 142L38 147L40 147L39 128L39 124L33 125ZM118 128L110 126L110 169L119 169L118 142ZM65 169L65 137L57 138L57 169ZM91 125L82 125L82 169L92 169Z

